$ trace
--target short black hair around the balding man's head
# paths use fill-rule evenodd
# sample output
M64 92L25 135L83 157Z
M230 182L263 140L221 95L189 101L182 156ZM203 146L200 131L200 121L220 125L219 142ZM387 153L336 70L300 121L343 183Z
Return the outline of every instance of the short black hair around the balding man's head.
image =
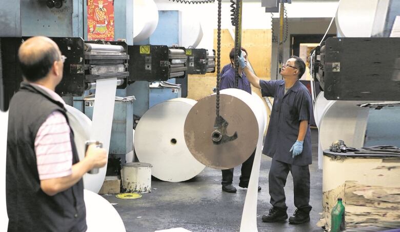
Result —
M59 59L61 57L54 46L50 46L37 57L18 57L22 74L30 82L36 82L46 77L54 61Z

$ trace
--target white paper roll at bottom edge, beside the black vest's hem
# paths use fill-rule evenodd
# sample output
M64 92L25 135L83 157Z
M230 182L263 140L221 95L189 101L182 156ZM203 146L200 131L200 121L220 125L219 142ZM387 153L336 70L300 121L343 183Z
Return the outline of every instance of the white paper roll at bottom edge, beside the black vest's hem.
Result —
M121 216L110 202L89 190L84 190L84 200L87 232L126 232Z

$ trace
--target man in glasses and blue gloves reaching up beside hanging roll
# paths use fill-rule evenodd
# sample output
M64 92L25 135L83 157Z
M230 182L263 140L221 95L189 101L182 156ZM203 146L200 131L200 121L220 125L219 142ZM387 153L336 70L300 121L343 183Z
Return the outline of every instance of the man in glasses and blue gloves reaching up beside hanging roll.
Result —
M261 89L264 97L273 97L273 107L265 138L263 154L272 157L269 171L269 194L271 196L268 215L264 222L284 221L286 213L284 187L289 171L293 176L294 205L297 207L289 223L302 224L310 221L310 172L311 160L311 96L299 79L303 76L304 61L291 56L282 67L283 80L260 80L239 57L250 83Z

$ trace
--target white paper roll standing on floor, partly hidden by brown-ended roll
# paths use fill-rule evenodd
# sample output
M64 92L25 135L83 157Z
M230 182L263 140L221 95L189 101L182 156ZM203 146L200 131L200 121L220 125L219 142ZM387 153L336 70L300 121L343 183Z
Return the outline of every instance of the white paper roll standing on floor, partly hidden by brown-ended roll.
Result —
M202 172L204 165L189 152L184 138L184 124L196 101L172 99L151 107L139 120L134 134L137 158L153 167L158 179L179 182Z

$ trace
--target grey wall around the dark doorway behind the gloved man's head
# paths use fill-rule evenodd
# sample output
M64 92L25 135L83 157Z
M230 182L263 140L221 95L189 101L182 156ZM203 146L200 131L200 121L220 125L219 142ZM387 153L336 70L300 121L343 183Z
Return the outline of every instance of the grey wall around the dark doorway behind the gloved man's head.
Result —
M288 39L284 43L284 57L283 63L286 62L290 57L290 35L294 34L322 34L324 35L328 29L329 22L332 18L289 18L289 32ZM278 18L274 18L273 29L275 36L279 34L279 22ZM336 25L333 21L328 34L336 34ZM272 56L271 56L271 80L275 79L276 76L276 65L277 65L277 49L278 44L272 43ZM282 77L278 75L278 80Z

